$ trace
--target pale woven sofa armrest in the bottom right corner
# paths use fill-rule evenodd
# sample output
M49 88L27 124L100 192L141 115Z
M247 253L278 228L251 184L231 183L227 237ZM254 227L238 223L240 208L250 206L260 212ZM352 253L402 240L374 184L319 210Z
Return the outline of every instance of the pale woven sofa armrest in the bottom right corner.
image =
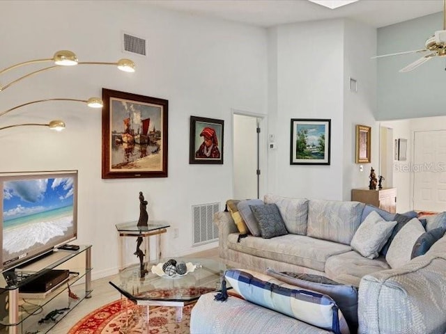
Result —
M446 256L417 257L399 269L364 276L358 300L358 333L444 334Z

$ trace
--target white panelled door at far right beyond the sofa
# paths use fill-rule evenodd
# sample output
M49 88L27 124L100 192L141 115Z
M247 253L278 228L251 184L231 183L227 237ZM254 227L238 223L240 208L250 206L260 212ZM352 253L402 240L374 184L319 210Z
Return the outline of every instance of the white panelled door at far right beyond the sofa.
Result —
M413 209L446 211L446 130L414 135Z

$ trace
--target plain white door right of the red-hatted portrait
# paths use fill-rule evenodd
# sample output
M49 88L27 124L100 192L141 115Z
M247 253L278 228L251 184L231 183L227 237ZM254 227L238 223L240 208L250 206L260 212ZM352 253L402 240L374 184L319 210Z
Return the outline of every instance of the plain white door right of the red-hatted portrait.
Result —
M233 198L257 198L257 118L233 114Z

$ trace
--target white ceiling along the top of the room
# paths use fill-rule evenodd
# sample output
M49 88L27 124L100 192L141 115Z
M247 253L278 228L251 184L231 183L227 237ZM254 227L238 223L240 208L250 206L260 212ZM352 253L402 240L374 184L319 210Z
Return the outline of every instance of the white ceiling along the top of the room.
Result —
M135 2L263 27L348 17L378 28L443 10L443 0L360 0L334 10L307 0L142 0Z

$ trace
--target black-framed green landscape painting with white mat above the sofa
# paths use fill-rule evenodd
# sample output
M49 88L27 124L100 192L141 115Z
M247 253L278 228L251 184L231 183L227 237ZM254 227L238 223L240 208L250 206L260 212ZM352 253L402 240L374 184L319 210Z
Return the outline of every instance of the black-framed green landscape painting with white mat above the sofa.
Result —
M291 119L291 165L330 165L331 120Z

